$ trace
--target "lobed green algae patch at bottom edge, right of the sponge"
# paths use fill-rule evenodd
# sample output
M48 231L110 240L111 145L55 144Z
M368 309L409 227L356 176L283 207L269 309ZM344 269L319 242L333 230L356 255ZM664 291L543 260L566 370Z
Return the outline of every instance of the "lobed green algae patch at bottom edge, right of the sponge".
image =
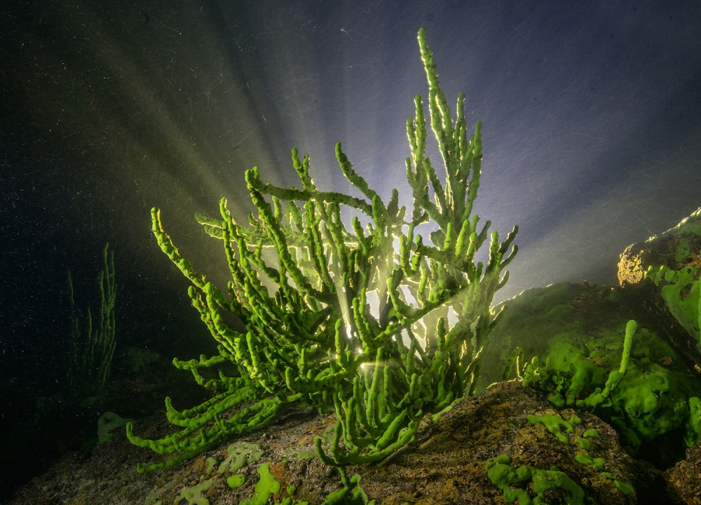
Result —
M565 493L564 503L568 505L584 505L584 491L569 476L557 470L539 470L531 466L510 466L511 458L507 454L489 460L486 463L489 480L502 490L504 500L512 503L519 500L519 505L545 504L545 493L562 490ZM531 499L529 493L522 489L511 489L511 485L532 482L536 497Z

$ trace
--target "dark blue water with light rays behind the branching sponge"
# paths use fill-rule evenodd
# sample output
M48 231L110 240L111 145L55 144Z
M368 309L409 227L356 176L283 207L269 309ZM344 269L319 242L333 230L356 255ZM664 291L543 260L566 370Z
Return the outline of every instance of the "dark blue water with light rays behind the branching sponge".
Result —
M701 206L696 1L8 1L0 26L0 431L13 433L0 501L94 436L34 427L60 411L41 398L68 401L67 276L78 316L95 313L106 243L111 378L136 367L162 380L143 349L216 353L151 208L224 285L226 257L193 215L216 215L225 196L245 222L245 170L289 187L292 147L320 189L341 191L343 142L371 187L411 205L419 27L451 107L463 92L468 129L484 123L475 213L503 236L519 225L495 302L564 281L617 285L627 245ZM61 412L58 431L70 430ZM102 414L88 403L75 426Z

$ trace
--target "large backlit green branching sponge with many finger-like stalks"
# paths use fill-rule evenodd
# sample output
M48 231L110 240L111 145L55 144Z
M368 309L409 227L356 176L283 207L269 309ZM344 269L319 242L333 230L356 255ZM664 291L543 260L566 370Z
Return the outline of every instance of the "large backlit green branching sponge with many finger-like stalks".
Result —
M182 429L161 440L139 438L128 425L132 443L172 454L139 471L177 464L296 403L332 411L338 419L330 447L323 447L321 438L315 445L322 462L339 467L344 487L329 503L340 503L362 494L359 479L348 478L346 466L383 459L412 440L424 415L442 412L475 390L479 363L499 318L491 302L517 253L512 246L517 227L502 242L496 231L489 233L489 221L478 229L472 206L481 175L482 125L477 123L468 137L464 95L458 97L455 121L451 118L423 29L418 41L428 78L430 125L446 175L441 181L425 156L427 121L417 96L416 116L407 121L410 216L399 205L397 189L384 201L369 188L340 143L339 168L364 198L319 191L309 156L300 158L292 149L299 187L275 187L261 179L258 167L247 170L257 208L257 216L248 215L248 226L233 219L226 199L220 217L196 215L224 246L231 281L222 289L179 254L159 210L152 211L158 244L193 284L193 306L219 344L218 356L173 363L191 370L199 384L222 392L183 412L167 398L168 419ZM343 207L360 213L365 226L354 217L348 229L341 220ZM416 232L430 221L437 230L428 243ZM486 264L476 262L488 239ZM275 291L266 285L275 285ZM226 312L243 323L245 332L226 324ZM456 316L453 325L449 314ZM219 372L219 379L208 381L198 373L224 362L238 373ZM245 401L250 406L240 408Z

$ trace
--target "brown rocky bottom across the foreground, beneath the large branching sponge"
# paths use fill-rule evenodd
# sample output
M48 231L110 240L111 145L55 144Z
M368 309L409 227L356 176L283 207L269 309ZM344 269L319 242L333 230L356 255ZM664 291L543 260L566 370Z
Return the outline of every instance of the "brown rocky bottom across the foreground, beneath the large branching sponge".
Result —
M160 415L142 422L154 435L168 430ZM152 504L185 504L183 496L197 494L198 503L228 505L257 494L266 503L291 504L294 499L297 504L321 504L341 485L338 472L315 457L313 439L326 433L329 440L334 422L333 416L294 408L278 422L197 459L146 474L135 471L144 450L117 433L90 455L65 455L8 503L135 504L148 499ZM221 465L232 443L257 445L261 454L232 473L229 465ZM222 468L224 473L219 473ZM510 474L519 470L530 477L509 484ZM660 472L622 450L611 426L587 413L556 412L543 393L518 381L495 384L466 398L437 422L426 419L412 443L381 462L348 468L349 476L355 473L367 499L386 505L503 504L504 483L533 499L542 489L538 476L559 476L541 491L549 503L669 502L660 495L665 489ZM231 487L227 482L235 475L240 476L237 485L243 484Z

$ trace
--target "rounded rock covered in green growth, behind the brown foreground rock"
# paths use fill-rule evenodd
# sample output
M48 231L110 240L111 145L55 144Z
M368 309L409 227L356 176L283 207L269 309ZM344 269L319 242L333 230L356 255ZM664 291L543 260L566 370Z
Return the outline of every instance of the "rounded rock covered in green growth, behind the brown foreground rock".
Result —
M687 443L698 439L690 398L701 384L686 361L662 339L654 313L641 310L626 290L596 285L554 284L526 290L491 334L478 391L501 378L512 349L524 349L525 383L547 391L559 407L592 410L611 419L624 443L644 441L681 426ZM639 325L625 374L608 398L601 394L620 367L629 318ZM523 367L522 367L523 368Z

